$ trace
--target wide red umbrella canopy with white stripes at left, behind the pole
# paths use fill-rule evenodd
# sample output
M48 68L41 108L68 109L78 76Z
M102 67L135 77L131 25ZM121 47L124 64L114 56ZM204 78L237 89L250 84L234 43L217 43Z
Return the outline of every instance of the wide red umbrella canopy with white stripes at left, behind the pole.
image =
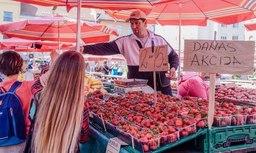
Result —
M66 17L42 17L0 24L0 33L8 38L29 40L76 42L76 20ZM80 38L85 43L109 41L110 35L118 33L105 25L81 21Z

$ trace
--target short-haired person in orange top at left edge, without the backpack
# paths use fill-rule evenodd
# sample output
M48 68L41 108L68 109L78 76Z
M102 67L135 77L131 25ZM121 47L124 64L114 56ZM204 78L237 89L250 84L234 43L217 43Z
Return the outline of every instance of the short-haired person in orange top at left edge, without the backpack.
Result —
M24 61L22 57L18 53L11 50L0 54L0 73L4 75L4 81L0 83L0 87L3 87L6 91L9 91L11 86L15 82L18 82L18 74L20 72L24 72L23 63ZM26 137L28 136L30 127L29 109L32 99L31 87L34 82L35 81L23 81L15 91L15 94L18 96L23 107L26 122ZM0 152L23 152L24 146L25 142L16 145L3 146L0 147Z

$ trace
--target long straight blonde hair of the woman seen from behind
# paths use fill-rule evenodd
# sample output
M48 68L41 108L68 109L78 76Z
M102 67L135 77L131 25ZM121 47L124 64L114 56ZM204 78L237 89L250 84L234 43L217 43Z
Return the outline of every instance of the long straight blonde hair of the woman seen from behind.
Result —
M53 64L38 101L33 152L74 152L84 106L84 60L68 51Z

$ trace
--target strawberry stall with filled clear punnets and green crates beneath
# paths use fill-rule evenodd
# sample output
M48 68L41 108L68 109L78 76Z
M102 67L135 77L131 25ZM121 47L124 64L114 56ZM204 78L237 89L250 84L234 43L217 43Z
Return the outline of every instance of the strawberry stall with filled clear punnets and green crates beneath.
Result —
M155 103L153 94L135 91L116 96L106 94L103 99L89 97L92 137L94 145L101 146L93 148L105 152L109 138L118 137L129 144L122 146L120 152L161 152L187 141L202 152L255 149L255 108L216 102L214 124L208 130L207 99L162 94L158 98ZM233 114L233 109L243 113ZM136 132L132 132L134 127ZM147 133L143 134L144 131ZM144 140L148 133L154 137Z

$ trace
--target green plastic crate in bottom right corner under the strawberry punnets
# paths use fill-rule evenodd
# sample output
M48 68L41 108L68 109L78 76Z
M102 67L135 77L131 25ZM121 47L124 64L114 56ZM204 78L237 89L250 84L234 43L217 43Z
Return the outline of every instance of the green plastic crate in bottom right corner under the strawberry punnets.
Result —
M200 136L195 145L203 152L220 152L256 146L256 126L253 124L207 129L207 138Z

